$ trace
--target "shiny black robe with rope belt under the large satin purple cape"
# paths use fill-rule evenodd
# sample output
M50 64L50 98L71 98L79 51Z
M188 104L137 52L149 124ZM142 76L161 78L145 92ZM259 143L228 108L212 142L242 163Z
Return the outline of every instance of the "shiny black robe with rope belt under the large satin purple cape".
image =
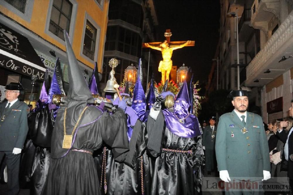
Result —
M183 138L166 127L162 112L156 121L148 118L148 150L156 157L151 194L198 194L201 188L203 162L202 138ZM192 150L180 153L171 150Z

